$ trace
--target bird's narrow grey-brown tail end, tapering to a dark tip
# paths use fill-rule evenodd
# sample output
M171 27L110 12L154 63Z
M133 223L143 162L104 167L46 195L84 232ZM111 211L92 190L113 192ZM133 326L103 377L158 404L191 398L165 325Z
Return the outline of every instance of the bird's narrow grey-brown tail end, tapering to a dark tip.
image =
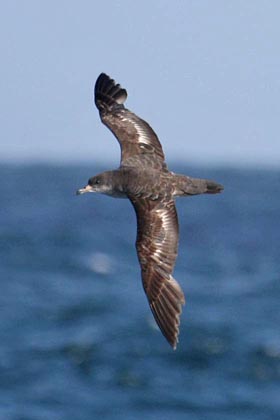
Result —
M210 179L191 178L184 175L175 175L175 194L176 196L197 195L197 194L217 194L223 191L224 187Z

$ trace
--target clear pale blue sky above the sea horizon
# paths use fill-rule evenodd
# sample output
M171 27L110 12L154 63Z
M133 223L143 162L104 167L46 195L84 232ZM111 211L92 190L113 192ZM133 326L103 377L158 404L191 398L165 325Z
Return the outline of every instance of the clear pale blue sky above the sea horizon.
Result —
M280 164L277 0L11 0L0 13L0 161L119 164L105 72L167 162Z

